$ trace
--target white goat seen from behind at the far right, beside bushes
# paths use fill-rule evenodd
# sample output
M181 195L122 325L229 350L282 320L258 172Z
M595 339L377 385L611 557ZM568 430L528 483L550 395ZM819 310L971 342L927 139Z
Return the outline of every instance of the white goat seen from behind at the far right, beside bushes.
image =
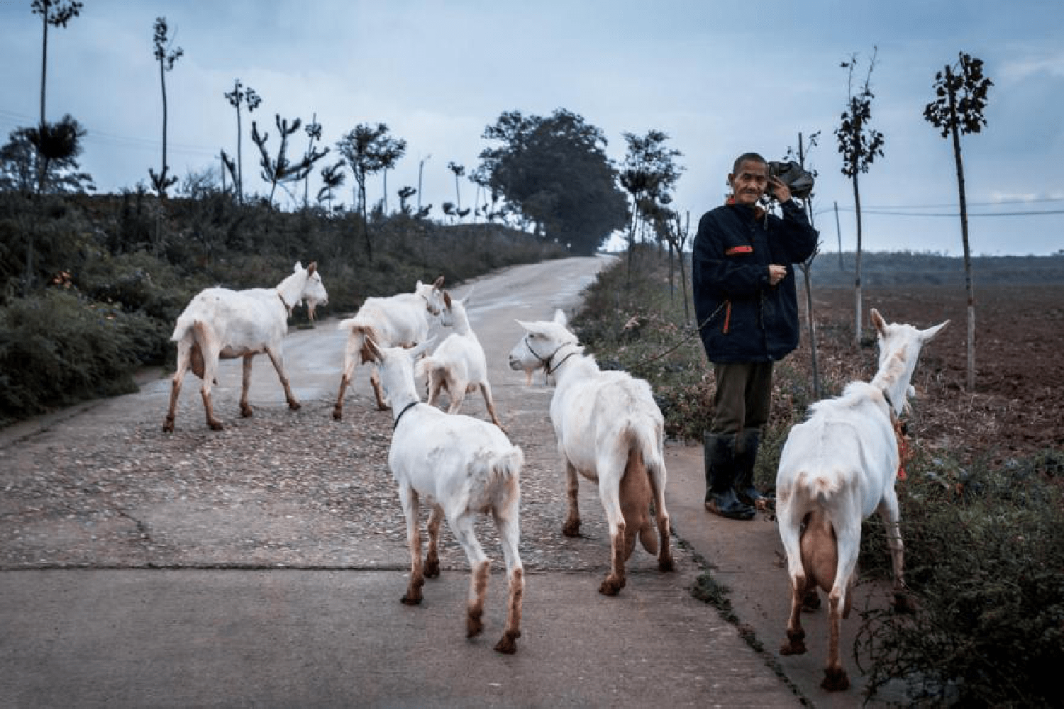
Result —
M886 526L894 571L895 608L905 610L898 496L901 462L898 416L908 406L920 348L949 322L928 330L871 321L879 340L879 371L870 383L851 382L843 394L817 402L791 429L776 476L776 514L791 577L791 617L783 655L805 652L801 607L808 592L828 592L830 639L821 687L845 690L838 658L839 620L849 615L861 548L861 522L878 511Z

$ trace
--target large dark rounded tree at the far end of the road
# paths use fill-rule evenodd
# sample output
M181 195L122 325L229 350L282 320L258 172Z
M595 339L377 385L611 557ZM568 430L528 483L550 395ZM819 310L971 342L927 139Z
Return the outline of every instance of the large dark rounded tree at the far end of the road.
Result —
M622 229L628 207L602 131L583 117L503 113L483 137L498 147L480 154L488 183L548 239L592 254Z

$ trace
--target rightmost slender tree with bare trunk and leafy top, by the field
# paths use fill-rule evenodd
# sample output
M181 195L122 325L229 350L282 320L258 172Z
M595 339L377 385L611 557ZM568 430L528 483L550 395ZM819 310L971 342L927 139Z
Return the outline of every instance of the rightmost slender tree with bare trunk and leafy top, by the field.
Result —
M964 162L961 134L979 133L986 119L986 92L994 82L983 75L983 61L960 53L954 66L947 65L934 77L935 100L924 108L924 118L953 137L957 192L961 205L961 239L964 242L964 286L968 293L968 391L976 389L976 297L971 283L971 250L968 247L968 204L964 193Z

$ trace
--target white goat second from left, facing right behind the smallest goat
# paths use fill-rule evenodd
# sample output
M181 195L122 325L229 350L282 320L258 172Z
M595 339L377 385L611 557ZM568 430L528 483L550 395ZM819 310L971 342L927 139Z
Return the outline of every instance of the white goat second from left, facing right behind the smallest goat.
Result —
M414 347L429 337L431 322L429 316L439 316L445 308L444 276L428 285L420 281L412 293L397 293L387 298L367 298L353 318L340 321L339 330L349 332L344 350L344 374L339 381L339 393L333 406L333 418L344 418L344 392L351 384L354 366L372 364L373 357L365 347L366 338L372 337L378 347ZM446 323L445 323L446 324ZM369 383L373 386L377 407L387 409L381 393L381 383L377 375L377 365L372 365Z

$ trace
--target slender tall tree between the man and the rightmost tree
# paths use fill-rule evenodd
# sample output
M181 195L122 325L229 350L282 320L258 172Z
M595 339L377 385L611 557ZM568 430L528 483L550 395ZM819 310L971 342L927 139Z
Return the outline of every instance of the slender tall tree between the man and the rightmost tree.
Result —
M854 327L854 344L861 347L861 190L858 185L858 175L868 172L868 167L876 159L876 156L883 155L883 134L872 130L868 123L871 120L871 100L875 94L871 92L871 71L876 67L876 51L872 52L871 61L868 63L868 73L865 77L864 86L853 92L853 69L858 65L857 54L850 56L849 62L843 62L842 67L849 69L847 86L849 98L846 102L846 111L843 112L842 122L835 129L835 137L838 139L838 152L843 156L843 174L850 179L853 184L853 207L858 220L858 247L857 264L854 269L857 275L853 281L854 297L857 300L857 326Z

